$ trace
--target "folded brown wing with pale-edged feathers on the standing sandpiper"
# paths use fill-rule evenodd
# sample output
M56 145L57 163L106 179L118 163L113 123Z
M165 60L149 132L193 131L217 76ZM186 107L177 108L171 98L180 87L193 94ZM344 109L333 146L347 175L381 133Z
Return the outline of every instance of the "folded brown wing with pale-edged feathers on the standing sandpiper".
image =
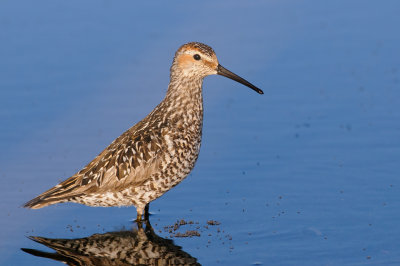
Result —
M118 137L81 171L38 198L69 198L143 183L160 165L161 129L135 130L137 126Z

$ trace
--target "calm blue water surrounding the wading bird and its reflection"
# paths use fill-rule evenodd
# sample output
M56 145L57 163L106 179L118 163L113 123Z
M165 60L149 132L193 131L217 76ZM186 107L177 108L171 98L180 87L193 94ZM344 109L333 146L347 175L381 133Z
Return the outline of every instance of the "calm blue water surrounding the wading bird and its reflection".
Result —
M58 265L26 236L130 230L134 208L20 206L74 174L162 100L175 50L211 45L262 88L204 82L191 175L154 232L203 265L400 264L397 1L3 1L0 264ZM193 221L176 232L167 226ZM218 221L209 226L207 221Z

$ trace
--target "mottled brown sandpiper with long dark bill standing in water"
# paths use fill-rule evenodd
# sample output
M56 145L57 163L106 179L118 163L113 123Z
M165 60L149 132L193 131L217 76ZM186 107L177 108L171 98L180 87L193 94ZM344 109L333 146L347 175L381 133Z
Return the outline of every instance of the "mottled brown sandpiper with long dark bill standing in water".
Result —
M27 202L39 209L61 202L88 206L132 206L137 220L149 203L181 182L197 160L203 126L203 79L222 75L259 94L263 91L218 63L202 43L175 53L164 100L142 121L114 140L78 173Z

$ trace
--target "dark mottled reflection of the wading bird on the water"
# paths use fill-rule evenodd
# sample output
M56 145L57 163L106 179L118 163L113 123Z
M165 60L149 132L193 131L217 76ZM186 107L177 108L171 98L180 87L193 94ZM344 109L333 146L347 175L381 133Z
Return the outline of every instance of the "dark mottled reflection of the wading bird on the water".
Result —
M85 238L30 237L56 252L22 248L38 257L68 265L200 265L170 239L154 233L149 222L132 231L94 234Z

